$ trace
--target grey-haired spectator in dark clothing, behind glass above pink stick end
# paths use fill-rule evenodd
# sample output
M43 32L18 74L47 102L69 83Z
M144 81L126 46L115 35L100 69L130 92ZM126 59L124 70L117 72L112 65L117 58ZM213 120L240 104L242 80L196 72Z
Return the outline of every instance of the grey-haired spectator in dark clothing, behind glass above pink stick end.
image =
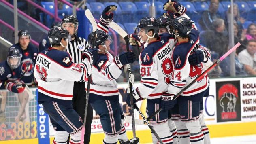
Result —
M211 51L215 51L219 56L222 56L228 51L228 38L224 33L224 20L215 19L212 26L214 30L207 30L205 32L205 47L209 48Z

